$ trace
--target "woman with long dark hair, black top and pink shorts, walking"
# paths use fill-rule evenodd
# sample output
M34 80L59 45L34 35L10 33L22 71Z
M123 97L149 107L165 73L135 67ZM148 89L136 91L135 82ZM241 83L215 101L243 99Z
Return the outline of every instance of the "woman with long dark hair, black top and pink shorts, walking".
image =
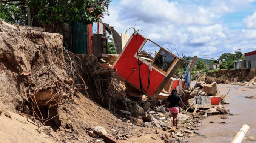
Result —
M170 113L173 115L173 127L176 125L176 129L178 128L178 120L177 116L179 113L179 105L182 105L182 108L184 107L184 103L182 102L180 96L177 94L177 90L173 89L171 92L171 95L168 96L166 106L165 106L165 111L168 111L168 105L169 105L169 110Z

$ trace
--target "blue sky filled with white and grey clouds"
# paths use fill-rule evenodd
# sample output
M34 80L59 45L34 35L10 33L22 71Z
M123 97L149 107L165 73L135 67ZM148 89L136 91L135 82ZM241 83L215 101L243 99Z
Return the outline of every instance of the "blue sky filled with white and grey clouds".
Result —
M217 59L256 50L256 0L112 0L103 22L119 34L136 25L179 55Z

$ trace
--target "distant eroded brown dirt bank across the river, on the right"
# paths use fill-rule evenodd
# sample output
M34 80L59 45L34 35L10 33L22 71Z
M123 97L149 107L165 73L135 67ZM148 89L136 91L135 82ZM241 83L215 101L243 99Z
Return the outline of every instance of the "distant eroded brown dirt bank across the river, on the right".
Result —
M236 70L223 70L210 72L207 74L199 75L199 80L205 81L207 84L216 81L219 83L230 82L244 82L250 81L256 77L256 69L236 69Z

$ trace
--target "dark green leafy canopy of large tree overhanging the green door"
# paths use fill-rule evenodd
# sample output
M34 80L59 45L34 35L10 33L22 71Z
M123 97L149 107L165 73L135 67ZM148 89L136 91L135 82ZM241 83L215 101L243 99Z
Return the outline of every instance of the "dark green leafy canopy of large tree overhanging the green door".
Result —
M27 5L39 10L35 18L41 23L79 21L86 25L98 21L98 15L103 16L105 9L108 10L109 0L100 1L103 5L94 6L93 0L28 0ZM92 7L94 10L89 9Z

